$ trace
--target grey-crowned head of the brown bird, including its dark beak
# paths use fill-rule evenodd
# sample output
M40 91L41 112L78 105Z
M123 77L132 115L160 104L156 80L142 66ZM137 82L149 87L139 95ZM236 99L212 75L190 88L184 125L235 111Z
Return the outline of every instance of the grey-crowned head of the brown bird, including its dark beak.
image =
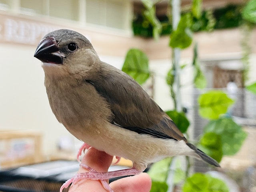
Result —
M43 62L42 67L46 74L55 75L89 71L99 60L86 37L67 29L46 34L39 42L34 57Z

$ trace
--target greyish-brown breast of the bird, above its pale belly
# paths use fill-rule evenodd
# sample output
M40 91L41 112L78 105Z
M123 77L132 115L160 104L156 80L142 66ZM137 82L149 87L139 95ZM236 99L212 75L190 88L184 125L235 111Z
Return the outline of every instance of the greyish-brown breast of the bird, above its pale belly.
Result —
M108 124L112 112L94 86L86 82L71 86L58 82L46 86L49 103L57 120L80 140L84 135L99 132Z

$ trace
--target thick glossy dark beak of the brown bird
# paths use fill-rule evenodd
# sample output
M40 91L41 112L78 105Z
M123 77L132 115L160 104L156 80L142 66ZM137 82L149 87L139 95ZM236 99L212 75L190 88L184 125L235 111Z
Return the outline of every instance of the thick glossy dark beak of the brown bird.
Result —
M39 42L34 57L43 63L62 64L65 55L60 53L55 38L47 37Z

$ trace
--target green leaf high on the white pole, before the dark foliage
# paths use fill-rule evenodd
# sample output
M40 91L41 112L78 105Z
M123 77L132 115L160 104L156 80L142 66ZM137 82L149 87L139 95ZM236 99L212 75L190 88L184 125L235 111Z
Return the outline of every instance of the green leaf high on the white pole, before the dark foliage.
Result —
M178 24L177 29L170 36L170 47L172 48L187 48L192 43L191 15L184 14Z

